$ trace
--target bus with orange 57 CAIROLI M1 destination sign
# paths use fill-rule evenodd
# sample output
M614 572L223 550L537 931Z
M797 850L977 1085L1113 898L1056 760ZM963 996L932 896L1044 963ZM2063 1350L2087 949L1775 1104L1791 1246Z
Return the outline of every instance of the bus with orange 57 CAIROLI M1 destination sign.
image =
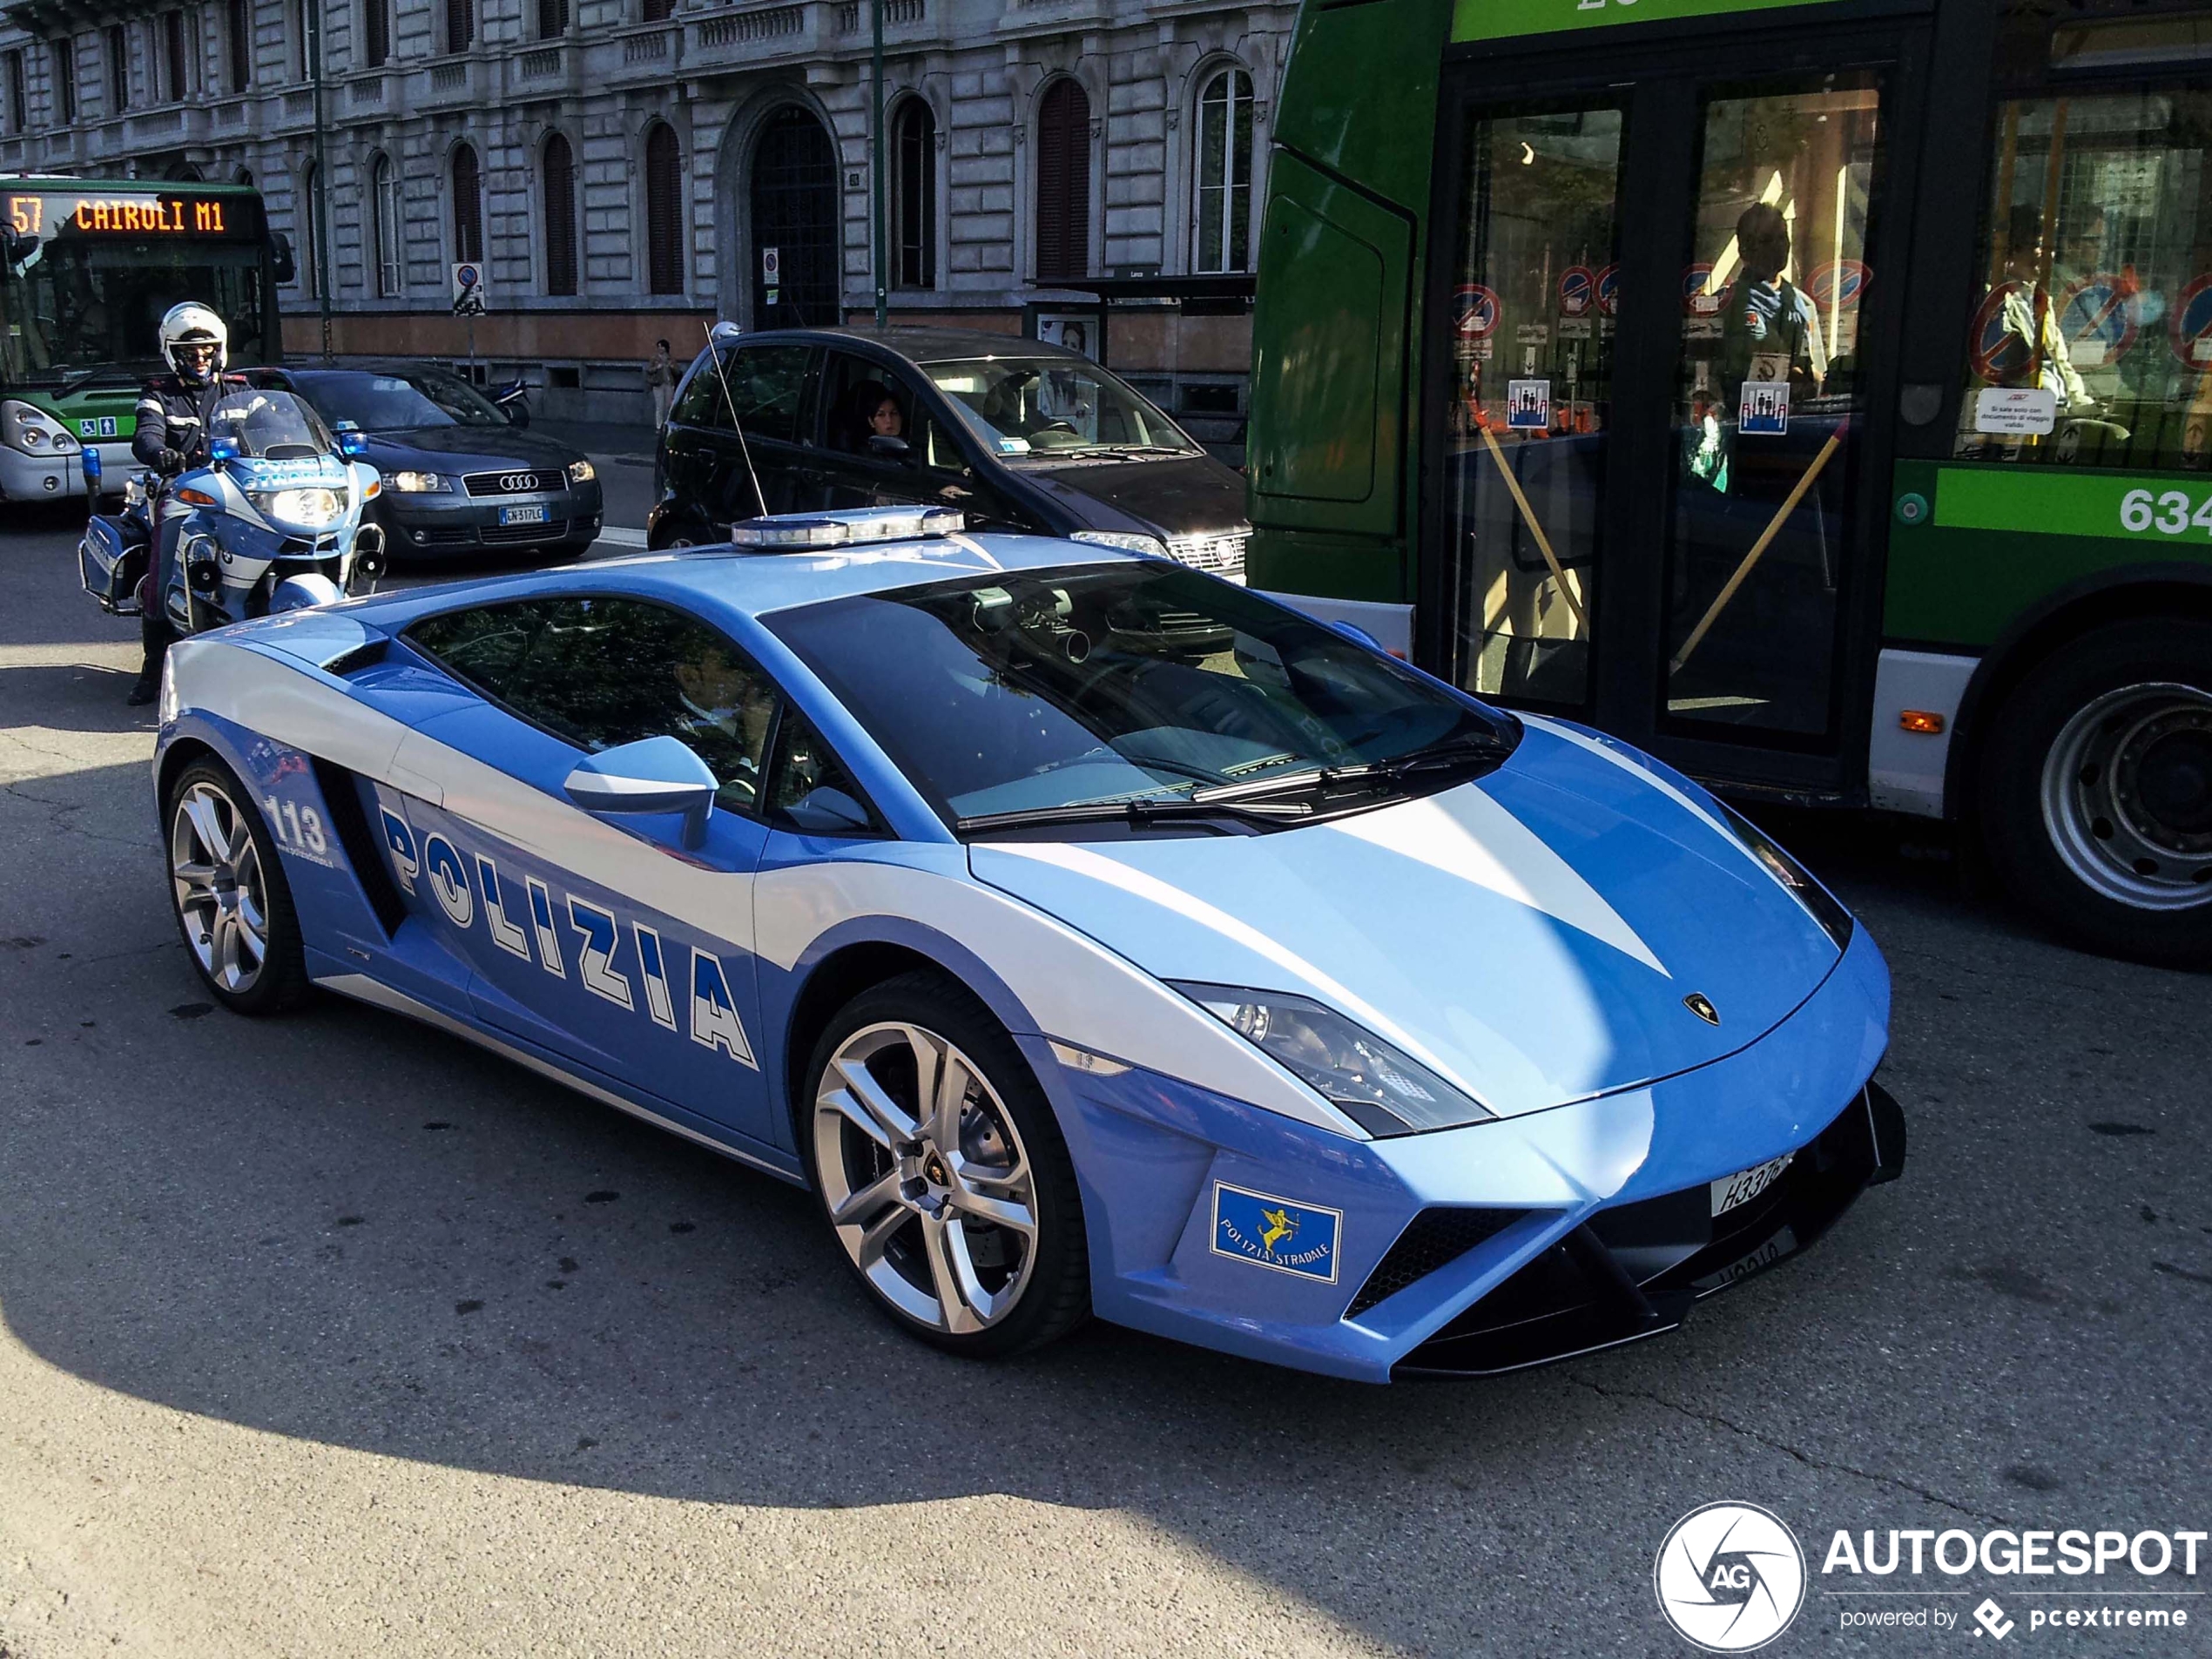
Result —
M0 177L0 500L82 495L84 445L124 478L179 301L230 323L232 367L276 363L290 279L252 186Z

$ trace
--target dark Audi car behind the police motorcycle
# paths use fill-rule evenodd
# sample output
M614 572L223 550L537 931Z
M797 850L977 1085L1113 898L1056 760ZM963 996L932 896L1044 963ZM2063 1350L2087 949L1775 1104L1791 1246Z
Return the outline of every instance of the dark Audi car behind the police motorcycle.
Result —
M367 436L394 560L531 551L575 557L599 535L599 478L582 451L535 431L520 400L500 405L456 374L416 363L254 369L299 392L330 425Z

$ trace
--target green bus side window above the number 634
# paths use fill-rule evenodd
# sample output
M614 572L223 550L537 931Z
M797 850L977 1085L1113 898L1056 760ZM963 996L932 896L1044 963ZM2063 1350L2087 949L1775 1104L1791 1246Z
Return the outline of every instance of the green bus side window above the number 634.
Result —
M1997 111L1958 453L2075 467L2212 458L2212 93Z

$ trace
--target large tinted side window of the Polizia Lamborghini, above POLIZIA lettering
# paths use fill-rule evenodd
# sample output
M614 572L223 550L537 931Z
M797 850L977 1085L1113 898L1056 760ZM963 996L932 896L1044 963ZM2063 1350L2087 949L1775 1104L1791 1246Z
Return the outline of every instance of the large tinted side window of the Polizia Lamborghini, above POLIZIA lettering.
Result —
M759 810L774 681L721 633L661 604L557 597L425 617L407 637L495 703L597 754L675 737Z

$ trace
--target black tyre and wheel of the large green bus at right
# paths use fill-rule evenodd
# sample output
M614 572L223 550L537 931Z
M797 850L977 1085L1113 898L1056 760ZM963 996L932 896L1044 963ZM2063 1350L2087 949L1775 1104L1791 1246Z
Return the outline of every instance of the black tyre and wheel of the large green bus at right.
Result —
M2084 949L2212 962L2212 624L2124 622L2013 690L1982 754L2006 887Z

